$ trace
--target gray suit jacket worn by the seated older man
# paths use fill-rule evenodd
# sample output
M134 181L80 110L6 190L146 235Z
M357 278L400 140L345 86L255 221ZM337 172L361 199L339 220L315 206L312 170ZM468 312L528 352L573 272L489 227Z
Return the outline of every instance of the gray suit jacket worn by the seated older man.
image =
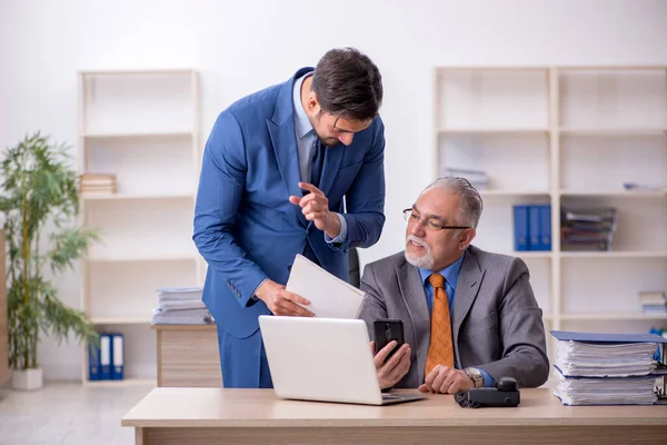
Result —
M424 383L430 342L430 314L419 269L400 251L364 268L361 289L367 297L359 318L400 318L412 349L410 370L396 385L416 388ZM542 312L520 258L490 254L469 246L456 286L451 329L459 368L486 370L496 382L514 377L521 387L544 384L549 375Z

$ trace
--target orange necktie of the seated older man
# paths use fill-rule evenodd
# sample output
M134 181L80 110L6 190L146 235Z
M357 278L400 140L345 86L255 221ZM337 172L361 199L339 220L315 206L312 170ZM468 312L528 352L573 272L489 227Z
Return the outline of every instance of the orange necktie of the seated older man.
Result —
M431 274L428 277L434 287L434 309L431 313L431 338L426 357L426 377L438 364L454 367L454 343L451 340L451 319L449 317L449 300L445 290L445 277Z

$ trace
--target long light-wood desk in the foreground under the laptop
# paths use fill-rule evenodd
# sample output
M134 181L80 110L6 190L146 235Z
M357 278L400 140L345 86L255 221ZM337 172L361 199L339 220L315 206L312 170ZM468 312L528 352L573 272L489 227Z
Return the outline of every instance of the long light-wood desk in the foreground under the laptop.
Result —
M521 390L517 408L452 396L391 406L278 399L272 389L156 388L123 418L153 444L665 444L667 406L563 406Z

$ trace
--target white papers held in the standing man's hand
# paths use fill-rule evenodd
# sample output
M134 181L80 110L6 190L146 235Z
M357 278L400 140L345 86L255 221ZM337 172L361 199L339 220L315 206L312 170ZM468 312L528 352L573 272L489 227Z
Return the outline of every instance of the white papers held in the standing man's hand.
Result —
M366 296L302 255L296 256L286 288L309 300L302 307L322 318L357 318Z

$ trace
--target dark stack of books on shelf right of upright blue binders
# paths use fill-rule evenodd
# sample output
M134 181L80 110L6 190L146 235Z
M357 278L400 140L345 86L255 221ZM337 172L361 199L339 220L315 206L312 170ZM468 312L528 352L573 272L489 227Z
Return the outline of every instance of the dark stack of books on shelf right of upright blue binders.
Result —
M618 212L615 208L560 209L564 251L611 250Z

